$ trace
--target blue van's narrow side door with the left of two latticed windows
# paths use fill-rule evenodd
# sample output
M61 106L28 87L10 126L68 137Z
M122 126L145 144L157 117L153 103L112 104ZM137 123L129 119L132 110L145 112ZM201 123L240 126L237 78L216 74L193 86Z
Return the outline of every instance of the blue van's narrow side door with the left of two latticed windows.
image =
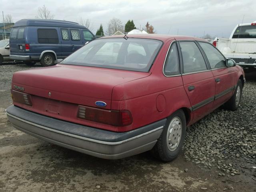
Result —
M70 40L70 33L68 28L60 28L61 34L61 50L62 50L62 57L67 57L72 53L71 47L71 40Z

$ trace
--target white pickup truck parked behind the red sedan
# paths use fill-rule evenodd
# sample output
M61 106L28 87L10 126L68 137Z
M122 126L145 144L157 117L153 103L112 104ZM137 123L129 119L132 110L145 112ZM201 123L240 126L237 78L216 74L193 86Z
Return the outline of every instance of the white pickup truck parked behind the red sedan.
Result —
M256 70L256 21L238 24L229 39L216 37L214 46L244 68L246 72Z

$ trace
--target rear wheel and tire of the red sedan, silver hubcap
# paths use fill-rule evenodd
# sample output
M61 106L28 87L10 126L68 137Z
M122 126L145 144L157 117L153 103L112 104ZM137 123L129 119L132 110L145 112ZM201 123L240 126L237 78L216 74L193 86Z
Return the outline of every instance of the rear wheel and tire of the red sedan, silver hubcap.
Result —
M170 130L172 132L171 134L168 134ZM180 130L181 130L181 133L179 132ZM173 136L170 136L171 140L167 139L168 137L167 134L173 135ZM186 117L183 110L178 110L167 118L166 124L164 126L164 130L162 131L162 134L160 138L157 140L155 146L151 150L151 154L158 160L162 160L164 162L170 162L174 160L178 156L180 150L182 149L185 135L186 135ZM177 145L174 143L176 143Z

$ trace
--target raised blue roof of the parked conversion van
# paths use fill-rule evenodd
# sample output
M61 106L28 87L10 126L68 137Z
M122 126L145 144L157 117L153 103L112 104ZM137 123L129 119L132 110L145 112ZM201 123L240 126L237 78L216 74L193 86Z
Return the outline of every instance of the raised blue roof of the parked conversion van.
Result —
M87 29L78 23L71 21L49 20L49 19L22 19L14 24L15 27L38 26L38 27L65 27Z

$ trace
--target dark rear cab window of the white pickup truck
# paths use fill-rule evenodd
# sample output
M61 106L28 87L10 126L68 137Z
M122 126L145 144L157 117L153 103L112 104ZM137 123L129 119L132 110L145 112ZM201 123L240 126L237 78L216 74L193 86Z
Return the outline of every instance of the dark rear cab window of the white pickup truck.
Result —
M256 38L256 25L238 26L232 38Z

